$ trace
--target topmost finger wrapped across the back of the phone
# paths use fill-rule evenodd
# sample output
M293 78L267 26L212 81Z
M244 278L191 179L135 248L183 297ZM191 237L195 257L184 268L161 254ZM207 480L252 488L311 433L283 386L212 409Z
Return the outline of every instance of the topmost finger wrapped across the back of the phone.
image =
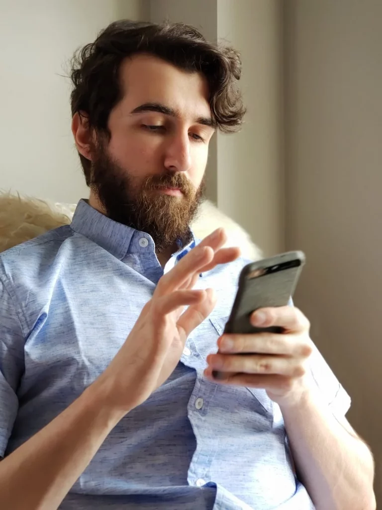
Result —
M286 331L308 331L310 323L295 307L261 308L251 315L251 324L257 327L281 326Z

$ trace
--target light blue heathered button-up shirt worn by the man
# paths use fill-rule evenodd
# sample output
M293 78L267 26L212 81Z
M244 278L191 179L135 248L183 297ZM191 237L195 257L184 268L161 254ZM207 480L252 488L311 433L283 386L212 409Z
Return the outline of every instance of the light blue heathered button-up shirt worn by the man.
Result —
M0 456L60 414L111 362L164 270L152 238L81 200L71 225L0 255ZM168 380L107 436L62 510L308 510L280 407L264 390L203 378L245 263L202 274L211 315ZM144 343L142 349L144 349ZM350 399L318 350L312 374L334 414Z

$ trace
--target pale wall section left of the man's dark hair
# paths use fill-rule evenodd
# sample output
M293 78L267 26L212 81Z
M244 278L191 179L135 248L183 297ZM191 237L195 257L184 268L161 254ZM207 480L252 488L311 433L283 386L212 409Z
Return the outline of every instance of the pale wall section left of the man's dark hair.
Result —
M148 10L142 0L0 0L0 189L69 202L88 195L60 74L107 23Z

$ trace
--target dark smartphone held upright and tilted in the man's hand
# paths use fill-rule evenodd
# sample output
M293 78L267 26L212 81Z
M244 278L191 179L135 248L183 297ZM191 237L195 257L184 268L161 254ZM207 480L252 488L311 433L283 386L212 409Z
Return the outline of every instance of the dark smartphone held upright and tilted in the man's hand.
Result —
M302 251L288 251L245 266L240 273L239 286L224 333L282 333L279 326L255 327L250 317L259 308L286 306L293 296L304 264L305 254ZM227 372L213 371L216 379L227 375Z

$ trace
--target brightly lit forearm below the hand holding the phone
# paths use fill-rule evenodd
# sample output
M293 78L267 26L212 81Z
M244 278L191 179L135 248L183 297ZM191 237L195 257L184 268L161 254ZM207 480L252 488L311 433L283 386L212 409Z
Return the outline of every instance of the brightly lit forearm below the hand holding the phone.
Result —
M372 455L337 421L319 392L282 413L297 473L317 510L373 510Z

